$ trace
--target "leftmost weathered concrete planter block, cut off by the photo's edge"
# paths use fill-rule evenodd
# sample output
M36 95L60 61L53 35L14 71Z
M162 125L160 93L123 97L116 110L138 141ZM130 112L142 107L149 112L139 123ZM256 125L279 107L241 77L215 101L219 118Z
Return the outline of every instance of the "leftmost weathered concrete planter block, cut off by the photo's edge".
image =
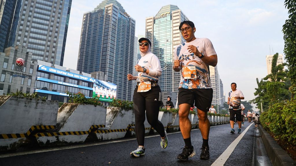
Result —
M17 149L34 129L55 126L58 108L57 101L0 96L0 151Z

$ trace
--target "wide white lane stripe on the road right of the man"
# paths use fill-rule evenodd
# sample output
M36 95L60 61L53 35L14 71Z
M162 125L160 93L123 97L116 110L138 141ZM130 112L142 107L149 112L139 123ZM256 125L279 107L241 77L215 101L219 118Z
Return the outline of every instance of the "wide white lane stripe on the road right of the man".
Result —
M249 128L252 126L252 124L253 123L251 123L241 134L239 134L239 136L237 137L237 139L235 139L229 145L229 147L227 147L227 149L218 157L218 159L215 162L213 162L213 164L211 166L221 166L221 165L224 165L225 164L226 160L229 158L229 156L233 152L234 148L237 146L237 144L242 139L242 137L244 136L244 134L247 133L247 131L249 130Z

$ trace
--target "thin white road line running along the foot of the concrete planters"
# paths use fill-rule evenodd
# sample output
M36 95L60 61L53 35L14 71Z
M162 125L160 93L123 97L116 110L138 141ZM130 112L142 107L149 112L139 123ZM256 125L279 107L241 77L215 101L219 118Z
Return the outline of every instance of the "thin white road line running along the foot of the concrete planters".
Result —
M223 125L229 125L229 124L223 124ZM223 126L223 125L218 125L218 126ZM218 126L211 126L211 127L218 127ZM199 130L199 128L192 129L192 130ZM168 133L167 135L175 134L175 133L180 133L180 132L181 131L172 132L172 133ZM152 135L152 136L145 136L145 138L150 138L150 137L155 137L155 136L159 136L159 135L157 134L157 135ZM98 143L95 143L95 144L73 145L73 146L69 146L69 147L60 147L60 148L51 148L51 149L43 149L43 150L32 150L32 151L27 151L27 152L17 152L17 153L1 154L0 155L0 158L20 156L20 155L25 155L25 154L35 154L35 153L51 152L51 151L65 150L65 149L91 147L91 146L96 146L96 145L111 144L111 143L123 142L123 141L131 141L131 140L136 140L136 138L120 139L120 140L106 141L106 142L98 142Z

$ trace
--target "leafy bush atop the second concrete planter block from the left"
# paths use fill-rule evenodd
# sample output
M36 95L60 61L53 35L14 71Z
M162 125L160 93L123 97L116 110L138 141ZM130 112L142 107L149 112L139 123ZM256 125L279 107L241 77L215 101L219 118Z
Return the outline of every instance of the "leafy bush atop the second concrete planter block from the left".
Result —
M67 91L67 94L69 95L69 101L70 103L79 103L79 104L91 104L91 105L103 105L98 97L93 98L86 98L82 93L70 93Z

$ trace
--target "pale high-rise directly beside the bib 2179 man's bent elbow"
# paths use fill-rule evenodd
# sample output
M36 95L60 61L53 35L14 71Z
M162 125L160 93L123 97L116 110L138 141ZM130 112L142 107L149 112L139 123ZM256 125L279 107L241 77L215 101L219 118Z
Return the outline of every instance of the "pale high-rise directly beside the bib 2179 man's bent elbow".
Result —
M212 105L217 105L219 101L219 105L223 104L223 83L220 79L219 73L218 73L218 67L210 66L210 80L211 85L213 88L213 100Z

